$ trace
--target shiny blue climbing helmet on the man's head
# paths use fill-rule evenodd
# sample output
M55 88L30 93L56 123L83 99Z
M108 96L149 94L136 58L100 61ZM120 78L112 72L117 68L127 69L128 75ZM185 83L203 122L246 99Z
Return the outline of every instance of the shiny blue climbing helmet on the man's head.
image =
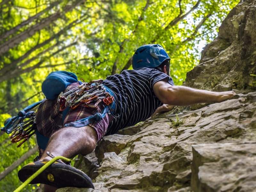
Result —
M161 45L142 45L133 54L132 68L156 68L161 65L165 60L170 60L170 57Z

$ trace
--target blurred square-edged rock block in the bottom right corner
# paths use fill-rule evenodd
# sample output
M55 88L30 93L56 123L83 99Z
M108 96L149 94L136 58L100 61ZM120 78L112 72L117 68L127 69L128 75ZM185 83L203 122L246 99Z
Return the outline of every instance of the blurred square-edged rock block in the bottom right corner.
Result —
M256 142L192 146L194 191L254 191Z

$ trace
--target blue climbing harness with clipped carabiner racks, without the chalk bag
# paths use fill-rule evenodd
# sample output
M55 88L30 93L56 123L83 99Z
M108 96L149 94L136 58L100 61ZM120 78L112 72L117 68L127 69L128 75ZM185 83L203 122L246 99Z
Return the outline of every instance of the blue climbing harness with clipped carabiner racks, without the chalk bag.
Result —
M105 107L101 113L95 113L93 116L66 124L66 127L81 127L88 125L93 121L100 121L100 119L108 112L113 115L113 111L115 110L113 93L102 83L103 79L92 80L89 83L81 82L79 86L68 90L67 92L60 92L57 102L60 104L59 110L63 111L63 117L65 117L64 114L66 114L67 110L75 109L79 105L84 105L84 107L87 108L99 108L100 104L102 104ZM5 131L8 134L12 133L11 141L13 143L20 142L17 147L20 147L26 140L36 133L36 140L39 147L43 149L46 148L49 138L44 137L37 131L36 113L35 111L32 111L32 109L36 108L36 106L44 100L29 105L19 111L17 116L10 117L4 122L4 127L1 128L1 131Z

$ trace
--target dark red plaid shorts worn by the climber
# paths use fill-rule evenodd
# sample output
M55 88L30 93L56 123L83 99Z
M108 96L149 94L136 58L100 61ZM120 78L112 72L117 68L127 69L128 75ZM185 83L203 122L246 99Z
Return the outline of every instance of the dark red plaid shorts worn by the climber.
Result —
M73 89L80 84L78 82L72 83L68 85L64 92ZM71 122L75 122L77 120L83 119L88 116L94 115L96 112L101 112L104 109L104 106L99 106L99 108L87 108L82 104L76 107L75 109L69 110L66 117L62 117L63 112L59 110L60 104L57 103L57 98L55 100L44 100L36 111L36 125L37 131L43 135L44 137L50 138L51 135L57 130L64 127L65 124L69 124ZM64 119L64 120L63 120ZM88 124L93 127L98 135L98 142L102 139L102 137L106 134L108 124L112 120L112 116L106 114L98 122L92 122ZM67 127L69 128L69 127ZM70 129L75 129L75 127L70 127ZM44 152L43 149L39 147L39 157Z

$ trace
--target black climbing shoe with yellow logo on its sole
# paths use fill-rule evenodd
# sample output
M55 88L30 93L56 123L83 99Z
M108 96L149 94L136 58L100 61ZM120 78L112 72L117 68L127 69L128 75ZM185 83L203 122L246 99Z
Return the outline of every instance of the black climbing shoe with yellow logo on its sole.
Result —
M46 162L36 161L22 167L18 172L21 182L25 182L37 170L43 167ZM58 162L52 163L43 172L39 173L29 184L43 183L56 188L77 187L94 188L92 180L84 172L67 164Z

